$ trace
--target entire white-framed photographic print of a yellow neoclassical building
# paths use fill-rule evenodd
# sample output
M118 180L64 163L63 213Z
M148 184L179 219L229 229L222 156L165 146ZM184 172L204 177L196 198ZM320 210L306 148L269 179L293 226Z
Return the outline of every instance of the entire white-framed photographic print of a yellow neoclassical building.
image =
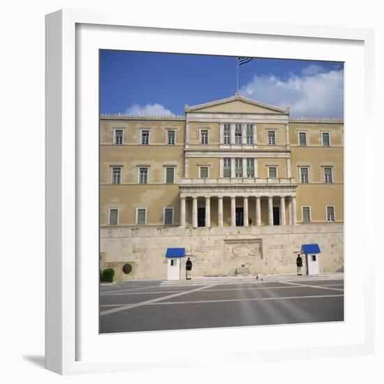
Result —
M47 15L47 369L373 348L371 31L212 25Z

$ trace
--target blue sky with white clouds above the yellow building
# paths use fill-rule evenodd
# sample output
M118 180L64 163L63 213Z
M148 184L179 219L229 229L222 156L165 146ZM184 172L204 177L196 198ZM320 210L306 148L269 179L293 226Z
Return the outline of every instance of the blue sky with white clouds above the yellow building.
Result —
M234 96L237 57L101 50L101 113L184 115L184 106ZM239 66L239 92L290 107L293 117L344 116L344 64L253 58Z

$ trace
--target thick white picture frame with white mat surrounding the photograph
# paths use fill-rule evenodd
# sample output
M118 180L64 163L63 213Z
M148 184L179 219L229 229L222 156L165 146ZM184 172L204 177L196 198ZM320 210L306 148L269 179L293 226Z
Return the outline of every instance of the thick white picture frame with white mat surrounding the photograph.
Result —
M131 38L126 39L126 34ZM154 39L154 34L158 38ZM226 45L212 45L214 40L221 43L225 40ZM81 10L60 10L47 15L46 368L59 374L79 374L373 353L374 301L370 295L373 290L370 278L374 258L367 258L362 265L356 263L353 255L373 254L373 234L369 232L368 223L374 222L374 212L356 212L353 219L348 214L348 207L355 201L348 182L353 181L356 172L369 177L369 164L374 162L374 151L367 150L368 139L364 138L363 145L357 139L357 128L369 126L372 119L373 45L373 31L368 29L228 22L220 17L210 20L209 24L205 20L187 19L149 24L145 15L133 17L117 12ZM181 46L184 48L178 48ZM98 61L94 62L98 49L156 50L156 47L160 52L249 57L256 56L257 47L260 57L345 61L348 165L345 170L344 322L112 335L95 332L98 258L94 251L98 250L98 236L95 238L94 234L98 234L98 210L94 212L94 207L98 197L84 200L82 196L85 190L94 188L92 175L94 168L98 168L98 147L94 145L98 144L98 113L92 115L91 112L98 110L98 105L94 103L95 95L83 98L82 84L91 80L87 82L87 92L91 95L96 89L98 97L98 80L93 81L98 77L92 77L98 68ZM85 57L91 62L87 79L78 76ZM352 77L353 82L349 80ZM78 104L80 100L82 103ZM83 131L84 119L95 131ZM87 140L84 140L86 133ZM355 147L360 148L360 153L364 152L364 163L356 163L353 158ZM371 206L369 198L367 190L360 191L360 201L367 207ZM85 212L89 214L88 223L92 223L87 232L83 228ZM362 223L358 228L357 221ZM358 231L362 235L356 236ZM90 257L96 255L95 260L85 260L84 249L89 250ZM87 270L84 269L86 262L91 262ZM364 290L358 289L356 277ZM300 340L297 339L299 331ZM180 335L189 337L189 348L177 349L175 353ZM257 344L249 343L256 338ZM134 353L124 349L127 341L134 347L131 348ZM204 351L201 343L205 343ZM108 355L105 355L105 345L110 347Z

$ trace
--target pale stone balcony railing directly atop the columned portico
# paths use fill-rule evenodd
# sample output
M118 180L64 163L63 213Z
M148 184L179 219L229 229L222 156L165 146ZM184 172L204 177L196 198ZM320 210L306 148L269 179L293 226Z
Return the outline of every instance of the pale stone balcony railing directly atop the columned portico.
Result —
M222 177L222 178L196 178L196 179L181 179L181 185L223 185L223 184L242 184L242 185L258 185L258 184L296 184L295 179L293 177L268 177L268 178L260 178L260 177Z

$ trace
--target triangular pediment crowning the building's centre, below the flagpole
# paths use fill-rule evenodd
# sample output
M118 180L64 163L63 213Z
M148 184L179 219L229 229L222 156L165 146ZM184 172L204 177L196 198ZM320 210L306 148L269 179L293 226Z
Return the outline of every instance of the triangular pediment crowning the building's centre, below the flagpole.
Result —
M223 98L211 103L186 106L186 112L207 112L207 113L265 113L265 114L289 114L289 109L283 109L260 103L236 94L230 98Z

